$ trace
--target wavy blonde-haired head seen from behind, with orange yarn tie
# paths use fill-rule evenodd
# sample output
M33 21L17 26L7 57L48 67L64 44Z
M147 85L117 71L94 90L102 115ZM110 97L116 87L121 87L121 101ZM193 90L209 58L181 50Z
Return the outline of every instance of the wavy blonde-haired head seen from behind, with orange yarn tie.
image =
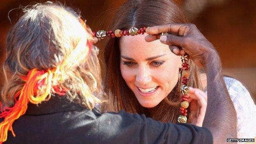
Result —
M96 57L92 37L72 12L51 2L25 7L9 32L1 98L12 107L1 107L0 142L7 140L8 130L16 136L14 121L30 113L30 104L43 105L55 95L90 110L101 103L98 59L90 58Z

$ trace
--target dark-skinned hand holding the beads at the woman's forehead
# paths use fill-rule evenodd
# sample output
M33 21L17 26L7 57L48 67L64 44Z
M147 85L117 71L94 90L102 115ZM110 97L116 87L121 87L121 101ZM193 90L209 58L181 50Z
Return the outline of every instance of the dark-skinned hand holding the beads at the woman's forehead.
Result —
M162 32L169 32L166 36L161 36ZM170 50L175 55L184 55L187 53L190 59L199 67L205 67L206 59L209 56L217 56L217 52L203 34L194 24L190 23L168 23L149 27L147 42L160 39L164 44L169 45Z

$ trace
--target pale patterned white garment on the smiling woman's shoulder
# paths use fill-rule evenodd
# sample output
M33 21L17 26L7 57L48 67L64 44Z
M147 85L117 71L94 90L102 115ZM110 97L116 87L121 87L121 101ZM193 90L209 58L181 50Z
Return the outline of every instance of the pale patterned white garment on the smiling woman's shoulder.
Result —
M238 80L230 77L224 80L237 113L238 138L256 137L256 105L251 95Z

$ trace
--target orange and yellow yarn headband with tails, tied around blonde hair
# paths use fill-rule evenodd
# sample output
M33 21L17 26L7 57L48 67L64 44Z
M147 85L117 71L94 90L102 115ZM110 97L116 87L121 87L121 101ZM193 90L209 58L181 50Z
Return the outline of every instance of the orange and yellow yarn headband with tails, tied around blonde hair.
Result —
M8 130L11 131L14 137L16 136L12 124L16 119L25 114L29 102L38 104L42 101L48 101L51 94L54 93L59 94L60 96L65 95L68 90L64 87L60 87L59 84L65 79L64 72L72 69L73 66L80 64L80 62L91 52L92 43L87 39L88 37L83 37L74 48L69 59L64 61L61 66L57 66L56 69L47 71L32 69L27 74L27 77L20 76L20 78L25 81L25 85L14 96L14 106L5 107L3 110L3 105L0 102L0 118L4 118L4 121L0 123L0 144L7 140ZM85 44L86 49L84 47ZM80 53L81 51L82 53Z

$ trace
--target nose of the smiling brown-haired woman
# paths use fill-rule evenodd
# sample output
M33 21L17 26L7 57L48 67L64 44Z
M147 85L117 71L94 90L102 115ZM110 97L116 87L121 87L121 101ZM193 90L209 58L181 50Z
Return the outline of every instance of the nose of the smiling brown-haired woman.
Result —
M147 83L151 82L152 77L151 77L151 72L149 69L145 67L141 67L137 71L136 75L136 81L139 85L146 85Z

